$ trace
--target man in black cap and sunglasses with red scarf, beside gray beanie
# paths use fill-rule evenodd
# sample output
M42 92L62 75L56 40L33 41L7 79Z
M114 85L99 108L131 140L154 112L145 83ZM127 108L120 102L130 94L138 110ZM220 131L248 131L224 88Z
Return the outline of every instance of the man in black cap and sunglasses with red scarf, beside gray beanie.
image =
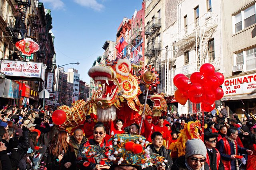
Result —
M218 133L204 133L204 144L207 149L206 163L210 166L211 170L224 170L220 152L215 148L217 137Z

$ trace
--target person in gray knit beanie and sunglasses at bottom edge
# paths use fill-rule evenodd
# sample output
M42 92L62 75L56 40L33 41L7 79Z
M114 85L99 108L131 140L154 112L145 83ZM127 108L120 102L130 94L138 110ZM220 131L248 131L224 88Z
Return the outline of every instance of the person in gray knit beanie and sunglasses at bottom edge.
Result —
M207 150L201 139L186 141L185 156L179 157L171 170L210 170L205 163Z

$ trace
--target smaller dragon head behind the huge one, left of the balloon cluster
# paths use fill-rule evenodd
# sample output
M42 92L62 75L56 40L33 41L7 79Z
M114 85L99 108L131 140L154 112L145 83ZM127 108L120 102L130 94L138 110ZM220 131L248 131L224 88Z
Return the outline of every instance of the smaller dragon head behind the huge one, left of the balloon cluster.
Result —
M154 106L152 109L153 117L159 117L162 115L166 115L167 104L166 104L166 100L164 99L164 93L154 94L154 95L150 96L150 100L152 102L154 102Z

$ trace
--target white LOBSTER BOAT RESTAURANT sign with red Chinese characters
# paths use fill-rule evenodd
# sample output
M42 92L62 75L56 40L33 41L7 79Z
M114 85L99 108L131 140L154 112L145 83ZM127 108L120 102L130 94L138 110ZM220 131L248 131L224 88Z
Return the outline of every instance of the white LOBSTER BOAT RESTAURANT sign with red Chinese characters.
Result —
M42 63L1 60L0 72L8 79L43 81L41 74L45 74L44 71Z

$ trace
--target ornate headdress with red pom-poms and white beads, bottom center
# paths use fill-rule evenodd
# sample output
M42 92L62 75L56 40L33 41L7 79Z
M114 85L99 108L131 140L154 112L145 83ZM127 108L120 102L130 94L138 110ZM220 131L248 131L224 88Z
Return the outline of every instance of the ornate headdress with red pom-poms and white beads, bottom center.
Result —
M82 148L81 155L84 158L98 157L106 154L108 158L101 159L101 164L110 165L134 165L146 168L148 166L162 164L168 162L159 154L150 154L149 144L145 141L145 137L140 135L116 134L112 136L112 145L103 149L97 149L90 145Z

